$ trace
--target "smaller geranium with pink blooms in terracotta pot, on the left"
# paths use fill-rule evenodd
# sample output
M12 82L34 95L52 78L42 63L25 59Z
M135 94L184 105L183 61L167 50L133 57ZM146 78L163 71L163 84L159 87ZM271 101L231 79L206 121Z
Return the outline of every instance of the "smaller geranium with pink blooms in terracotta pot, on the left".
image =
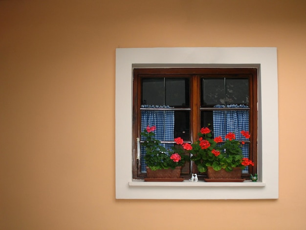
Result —
M147 164L147 177L149 178L179 178L181 167L190 160L182 148L172 147L166 149L155 138L156 126L149 127L141 132L145 137L143 146L146 150L144 160Z

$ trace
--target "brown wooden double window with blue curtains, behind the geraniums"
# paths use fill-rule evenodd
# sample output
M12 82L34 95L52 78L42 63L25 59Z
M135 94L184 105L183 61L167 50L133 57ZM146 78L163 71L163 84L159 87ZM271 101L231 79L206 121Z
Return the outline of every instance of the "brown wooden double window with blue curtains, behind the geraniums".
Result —
M156 125L156 137L164 147L174 138L195 141L201 127L212 129L215 137L250 131L251 139L243 145L244 157L255 165L243 176L257 173L257 69L256 68L160 68L133 69L133 178L143 179L146 165L143 147L137 138L147 127ZM138 151L140 150L141 153ZM200 174L193 161L181 176Z

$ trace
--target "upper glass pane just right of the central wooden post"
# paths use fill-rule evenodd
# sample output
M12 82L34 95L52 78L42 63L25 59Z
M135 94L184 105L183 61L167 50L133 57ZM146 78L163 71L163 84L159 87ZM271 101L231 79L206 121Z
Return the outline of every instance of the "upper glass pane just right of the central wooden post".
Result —
M224 78L202 78L201 92L201 107L224 105Z

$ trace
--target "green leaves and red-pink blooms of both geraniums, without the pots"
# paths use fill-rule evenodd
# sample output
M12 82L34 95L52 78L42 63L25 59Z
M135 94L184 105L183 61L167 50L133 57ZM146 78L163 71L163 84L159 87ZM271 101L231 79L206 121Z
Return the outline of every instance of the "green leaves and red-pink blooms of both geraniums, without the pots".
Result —
M148 127L141 133L146 138L142 143L146 148L144 159L152 170L184 166L185 162L189 160L195 161L197 169L201 173L206 172L208 166L212 166L216 171L223 168L230 172L235 167L243 169L249 164L254 165L252 161L243 158L242 144L235 139L234 133L227 134L225 140L221 137L213 139L211 130L202 128L198 133L199 139L193 144L183 143L181 138L176 138L175 142L179 145L166 149L161 146L159 140L155 139L154 130L155 126ZM249 138L247 131L241 131L241 134L245 138ZM171 159L174 155L179 157L179 160Z

